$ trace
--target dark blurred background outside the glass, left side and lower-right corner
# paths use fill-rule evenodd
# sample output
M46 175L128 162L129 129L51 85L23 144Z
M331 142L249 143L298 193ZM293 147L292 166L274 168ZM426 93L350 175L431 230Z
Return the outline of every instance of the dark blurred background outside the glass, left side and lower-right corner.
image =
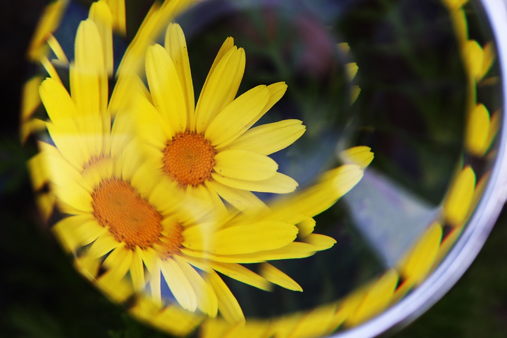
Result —
M83 280L38 221L19 143L24 53L47 1L0 1L0 337L165 337L128 317ZM507 213L472 267L395 337L507 337Z

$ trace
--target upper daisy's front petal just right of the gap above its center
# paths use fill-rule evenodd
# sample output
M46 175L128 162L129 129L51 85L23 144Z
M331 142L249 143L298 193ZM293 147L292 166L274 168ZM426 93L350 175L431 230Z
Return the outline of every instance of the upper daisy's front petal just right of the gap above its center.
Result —
M233 47L210 72L195 109L198 133L204 133L215 116L234 100L244 68L244 50Z

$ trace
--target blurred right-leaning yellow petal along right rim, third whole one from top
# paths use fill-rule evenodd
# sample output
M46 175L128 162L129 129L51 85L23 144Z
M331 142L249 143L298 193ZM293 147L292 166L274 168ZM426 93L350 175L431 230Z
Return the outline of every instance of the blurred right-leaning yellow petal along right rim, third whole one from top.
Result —
M466 166L454 179L449 193L444 201L444 216L446 221L456 227L464 221L468 213L474 189L476 177L474 170Z

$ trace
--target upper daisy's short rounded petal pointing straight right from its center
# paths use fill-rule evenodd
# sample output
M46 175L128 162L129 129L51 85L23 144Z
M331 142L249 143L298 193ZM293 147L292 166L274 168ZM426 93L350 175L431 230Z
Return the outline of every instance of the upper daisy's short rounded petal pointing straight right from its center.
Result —
M278 164L271 158L243 150L228 150L215 155L214 171L222 176L250 181L271 178Z

